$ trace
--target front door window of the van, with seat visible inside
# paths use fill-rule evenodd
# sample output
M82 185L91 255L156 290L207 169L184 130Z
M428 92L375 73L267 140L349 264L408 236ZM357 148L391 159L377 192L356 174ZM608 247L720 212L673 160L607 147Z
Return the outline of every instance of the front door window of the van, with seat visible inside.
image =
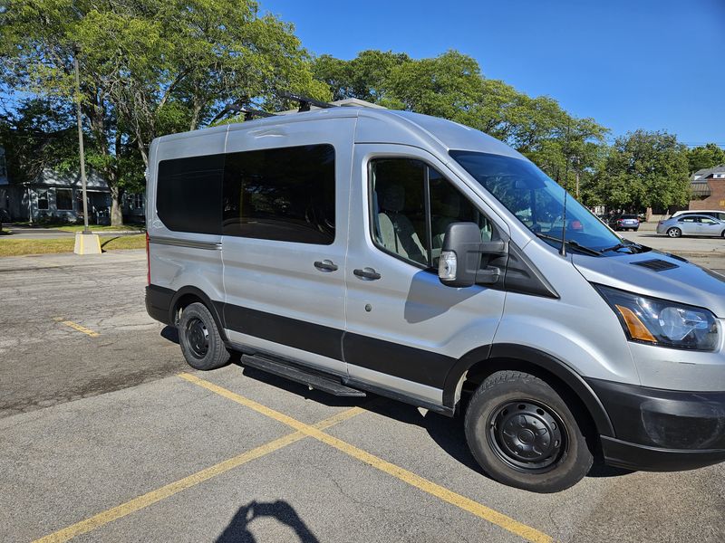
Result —
M459 190L424 162L380 158L370 167L373 241L385 252L420 267L437 267L449 224L472 222L490 241L488 219Z

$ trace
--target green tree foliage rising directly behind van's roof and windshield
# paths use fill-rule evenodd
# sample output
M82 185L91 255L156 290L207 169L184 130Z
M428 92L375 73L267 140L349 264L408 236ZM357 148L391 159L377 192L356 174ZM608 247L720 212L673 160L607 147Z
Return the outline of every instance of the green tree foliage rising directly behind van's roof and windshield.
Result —
M607 129L576 119L556 100L531 98L503 81L485 79L475 59L456 51L414 60L404 54L365 51L352 61L323 55L315 77L336 99L358 98L391 109L454 120L507 142L556 181L590 190Z

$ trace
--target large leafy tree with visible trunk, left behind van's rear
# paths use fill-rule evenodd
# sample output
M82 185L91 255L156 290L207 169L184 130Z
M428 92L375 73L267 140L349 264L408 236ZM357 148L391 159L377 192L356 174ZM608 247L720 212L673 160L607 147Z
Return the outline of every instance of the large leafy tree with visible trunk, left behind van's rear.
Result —
M329 97L292 27L249 0L6 0L0 90L70 103L77 46L88 161L111 188L111 224L152 138L198 129L230 101L264 107L276 89Z

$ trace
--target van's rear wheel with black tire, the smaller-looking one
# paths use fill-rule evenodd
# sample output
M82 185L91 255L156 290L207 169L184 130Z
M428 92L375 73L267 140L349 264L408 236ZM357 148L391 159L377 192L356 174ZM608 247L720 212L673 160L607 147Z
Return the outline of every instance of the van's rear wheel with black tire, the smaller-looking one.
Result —
M219 335L217 323L203 303L189 304L181 311L179 345L194 369L216 369L229 361L229 351Z

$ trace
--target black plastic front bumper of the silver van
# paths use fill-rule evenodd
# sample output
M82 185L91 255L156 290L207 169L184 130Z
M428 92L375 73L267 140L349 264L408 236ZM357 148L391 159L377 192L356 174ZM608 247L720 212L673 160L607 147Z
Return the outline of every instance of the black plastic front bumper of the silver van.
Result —
M673 472L725 461L725 392L681 392L586 379L614 427L604 460Z

